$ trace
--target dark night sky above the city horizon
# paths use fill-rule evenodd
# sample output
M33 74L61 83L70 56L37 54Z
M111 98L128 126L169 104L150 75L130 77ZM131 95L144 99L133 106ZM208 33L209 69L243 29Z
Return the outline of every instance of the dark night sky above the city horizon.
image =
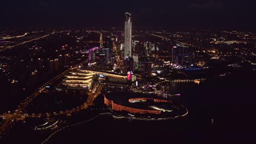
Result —
M0 26L123 27L124 13L130 11L137 28L255 31L255 4L248 0L8 0L0 4Z

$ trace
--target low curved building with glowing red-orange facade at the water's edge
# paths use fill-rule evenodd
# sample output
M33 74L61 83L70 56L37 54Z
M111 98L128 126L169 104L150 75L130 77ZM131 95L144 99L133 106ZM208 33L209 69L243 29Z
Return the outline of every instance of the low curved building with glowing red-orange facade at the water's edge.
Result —
M114 92L104 97L113 115L125 117L176 118L186 116L188 110L171 100L144 93Z

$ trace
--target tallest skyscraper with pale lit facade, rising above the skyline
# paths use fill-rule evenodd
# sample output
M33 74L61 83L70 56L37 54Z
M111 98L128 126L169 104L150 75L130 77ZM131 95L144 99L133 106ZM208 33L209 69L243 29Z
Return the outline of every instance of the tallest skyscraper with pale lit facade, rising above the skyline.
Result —
M125 57L132 57L132 22L131 14L125 13ZM124 57L124 58L125 58Z

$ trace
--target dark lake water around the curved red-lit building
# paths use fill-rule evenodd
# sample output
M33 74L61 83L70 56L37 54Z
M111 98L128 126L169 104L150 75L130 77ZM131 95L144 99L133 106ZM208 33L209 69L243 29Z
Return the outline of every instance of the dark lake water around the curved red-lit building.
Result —
M174 83L172 92L182 94L188 117L131 121L101 116L61 131L48 143L254 143L255 78L248 70L200 85Z

